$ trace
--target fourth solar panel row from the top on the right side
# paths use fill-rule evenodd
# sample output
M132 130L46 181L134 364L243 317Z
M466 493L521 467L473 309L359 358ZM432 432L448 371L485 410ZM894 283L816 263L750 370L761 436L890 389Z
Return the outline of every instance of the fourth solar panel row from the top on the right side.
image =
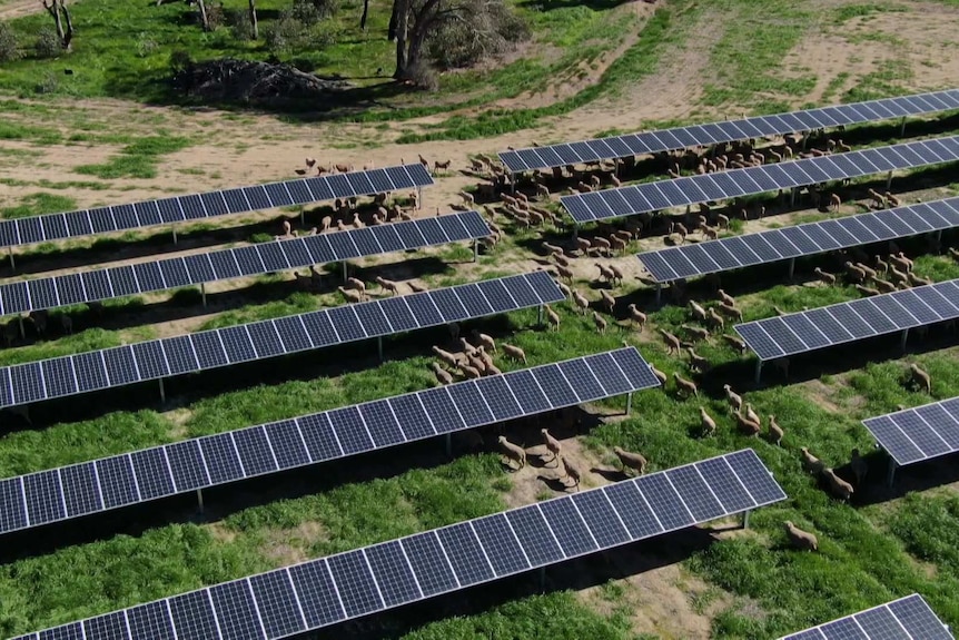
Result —
M735 325L761 361L959 318L959 280Z

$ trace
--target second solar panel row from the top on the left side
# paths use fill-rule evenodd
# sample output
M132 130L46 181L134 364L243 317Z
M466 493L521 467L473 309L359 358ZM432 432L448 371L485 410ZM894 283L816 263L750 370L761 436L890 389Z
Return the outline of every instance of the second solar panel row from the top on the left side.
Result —
M0 285L0 315L253 276L476 239L492 232L478 211L194 254Z

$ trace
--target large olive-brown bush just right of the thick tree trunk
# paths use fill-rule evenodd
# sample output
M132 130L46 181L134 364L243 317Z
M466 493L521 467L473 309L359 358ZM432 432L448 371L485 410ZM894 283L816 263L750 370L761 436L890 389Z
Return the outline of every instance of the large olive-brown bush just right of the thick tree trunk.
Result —
M473 67L530 38L526 22L502 1L467 0L463 14L468 20L448 20L426 41L427 56L442 69Z

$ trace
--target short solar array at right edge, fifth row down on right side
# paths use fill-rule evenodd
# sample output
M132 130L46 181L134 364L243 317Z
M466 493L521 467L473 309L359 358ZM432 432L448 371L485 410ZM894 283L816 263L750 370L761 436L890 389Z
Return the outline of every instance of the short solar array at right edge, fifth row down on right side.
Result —
M899 465L959 451L959 397L863 420Z

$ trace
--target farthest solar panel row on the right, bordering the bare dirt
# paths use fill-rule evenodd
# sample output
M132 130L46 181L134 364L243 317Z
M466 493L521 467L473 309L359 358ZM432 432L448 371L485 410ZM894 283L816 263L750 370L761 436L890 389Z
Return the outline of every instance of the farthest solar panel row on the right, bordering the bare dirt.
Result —
M532 169L551 169L577 163L612 160L660 151L676 151L700 145L715 145L748 140L762 136L784 136L794 131L825 129L844 125L858 125L920 116L959 109L959 90L918 93L901 98L869 100L851 105L837 105L820 109L757 116L739 120L726 120L691 127L674 127L644 134L612 136L582 142L530 147L515 151L503 151L500 159L513 173Z

